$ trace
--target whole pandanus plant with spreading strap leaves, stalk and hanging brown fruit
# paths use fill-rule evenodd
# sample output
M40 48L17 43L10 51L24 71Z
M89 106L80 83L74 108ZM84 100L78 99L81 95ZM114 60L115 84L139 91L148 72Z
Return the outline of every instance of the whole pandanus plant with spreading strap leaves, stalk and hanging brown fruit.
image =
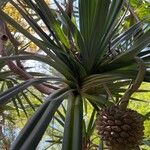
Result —
M77 11L74 11L72 0L68 1L65 10L54 0L57 11L44 0L9 2L36 34L31 34L1 8L0 18L5 21L3 28L6 30L6 23L10 24L45 55L21 51L18 55L8 56L4 41L10 35L7 30L2 32L0 61L26 81L1 93L0 105L7 104L11 97L31 85L47 94L10 149L35 149L64 101L67 108L62 150L87 149L83 134L83 114L87 102L94 109L92 120L98 112L98 134L108 149L136 149L143 137L143 120L140 114L127 106L141 83L150 81L150 52L145 49L150 42L149 24L138 21L121 32L120 27L129 9L124 0L78 0ZM46 30L40 27L41 22ZM61 77L33 78L24 68L16 69L12 62L29 59L52 66ZM115 100L113 93L121 92L120 87L127 85L129 88L123 91L124 95Z

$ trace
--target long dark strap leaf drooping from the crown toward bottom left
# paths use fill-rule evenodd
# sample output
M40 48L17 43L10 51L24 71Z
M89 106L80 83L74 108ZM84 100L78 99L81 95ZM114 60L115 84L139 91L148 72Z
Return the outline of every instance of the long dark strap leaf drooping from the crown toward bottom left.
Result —
M70 91L67 87L50 95L27 122L10 150L34 150L68 92Z

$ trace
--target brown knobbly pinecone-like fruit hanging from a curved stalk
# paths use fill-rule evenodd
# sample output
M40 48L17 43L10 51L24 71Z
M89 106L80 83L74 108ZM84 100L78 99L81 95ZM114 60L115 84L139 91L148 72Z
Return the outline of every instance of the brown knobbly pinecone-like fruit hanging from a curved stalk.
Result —
M122 110L111 106L102 109L97 113L96 127L110 150L132 150L143 138L142 116L128 108Z

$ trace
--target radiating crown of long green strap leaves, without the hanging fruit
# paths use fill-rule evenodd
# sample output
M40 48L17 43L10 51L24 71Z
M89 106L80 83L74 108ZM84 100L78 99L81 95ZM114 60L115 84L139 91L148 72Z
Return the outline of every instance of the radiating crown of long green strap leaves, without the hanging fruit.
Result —
M33 73L32 78L24 78L26 81L22 83L18 82L17 77L17 85L12 85L0 94L0 105L4 106L9 105L14 96L22 102L20 93L23 95L23 91L31 85L38 88L41 84L48 84L55 89L54 92L47 93L48 96L10 149L35 149L53 119L63 128L63 135L59 138L63 150L87 148L95 129L96 111L116 104L121 97L118 93L124 93L124 86L136 78L138 69L135 57L142 59L141 62L146 66L144 81L150 81L149 48L144 49L150 42L149 24L140 21L125 31L122 22L126 19L128 7L123 0L79 0L79 26L78 22L74 23L76 19L71 11L71 2L68 9L64 10L55 0L59 13L44 0L10 0L10 3L36 34L22 27L2 8L0 18L34 42L45 55L28 53L24 49L18 55L1 57L2 68L8 60L33 59L52 66L61 74L60 77L38 74L41 75L39 77ZM123 6L125 10L122 9ZM123 18L120 13L124 14ZM46 30L41 28L41 22ZM67 106L62 113L59 109L64 101ZM31 104L32 102L30 106ZM89 104L93 107L91 115L87 115L90 113ZM21 105L26 114L24 105Z

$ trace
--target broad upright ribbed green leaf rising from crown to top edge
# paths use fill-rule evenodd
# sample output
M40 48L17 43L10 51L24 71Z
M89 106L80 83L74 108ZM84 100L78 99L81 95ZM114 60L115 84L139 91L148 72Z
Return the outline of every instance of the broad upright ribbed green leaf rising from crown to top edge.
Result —
M109 0L79 1L80 31L85 42L83 59L86 59L86 68L88 72L93 66L97 51L99 51L98 45L105 32L104 27L109 5Z

